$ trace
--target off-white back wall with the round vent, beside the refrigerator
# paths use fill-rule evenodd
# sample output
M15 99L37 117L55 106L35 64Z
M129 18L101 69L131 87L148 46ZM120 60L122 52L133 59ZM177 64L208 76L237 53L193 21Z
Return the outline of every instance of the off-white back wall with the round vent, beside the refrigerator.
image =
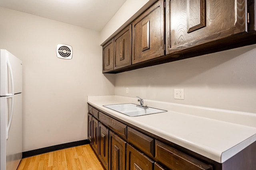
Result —
M87 139L87 95L113 95L100 33L0 7L0 48L23 61L23 151ZM73 47L72 60L56 45Z

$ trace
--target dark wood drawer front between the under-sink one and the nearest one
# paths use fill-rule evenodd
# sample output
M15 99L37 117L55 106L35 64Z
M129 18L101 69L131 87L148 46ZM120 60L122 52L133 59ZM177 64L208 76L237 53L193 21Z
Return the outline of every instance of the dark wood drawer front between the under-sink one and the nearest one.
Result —
M154 157L154 139L136 131L130 127L127 129L127 140L132 145L138 147L146 154Z

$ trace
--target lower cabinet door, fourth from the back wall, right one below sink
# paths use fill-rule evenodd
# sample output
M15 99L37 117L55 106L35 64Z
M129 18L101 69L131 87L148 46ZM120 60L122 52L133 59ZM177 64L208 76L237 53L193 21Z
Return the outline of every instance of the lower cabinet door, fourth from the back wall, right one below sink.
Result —
M126 141L109 131L109 170L125 170Z

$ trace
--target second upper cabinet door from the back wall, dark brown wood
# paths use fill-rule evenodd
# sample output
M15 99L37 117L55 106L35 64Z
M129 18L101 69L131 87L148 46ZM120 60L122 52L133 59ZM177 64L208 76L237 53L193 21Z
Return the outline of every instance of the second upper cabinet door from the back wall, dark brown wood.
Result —
M114 69L132 64L132 25L114 37Z

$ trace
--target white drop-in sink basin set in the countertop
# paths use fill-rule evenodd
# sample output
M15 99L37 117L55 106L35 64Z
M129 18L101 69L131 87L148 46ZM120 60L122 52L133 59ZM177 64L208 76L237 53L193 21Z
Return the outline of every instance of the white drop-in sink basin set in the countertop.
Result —
M137 107L136 104L132 104L132 103L104 105L104 107L107 107L114 111L118 111L128 116L149 115L149 114L161 113L166 111L166 110L156 109L152 107L148 107L148 109L144 109L144 108Z

